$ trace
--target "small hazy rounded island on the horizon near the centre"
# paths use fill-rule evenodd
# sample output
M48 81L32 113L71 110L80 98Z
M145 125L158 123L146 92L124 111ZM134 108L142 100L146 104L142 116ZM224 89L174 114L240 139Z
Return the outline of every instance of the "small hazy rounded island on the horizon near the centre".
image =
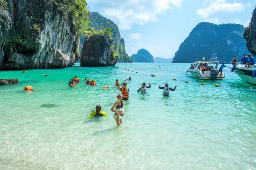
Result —
M140 49L137 54L131 56L133 62L154 62L154 57L145 49Z

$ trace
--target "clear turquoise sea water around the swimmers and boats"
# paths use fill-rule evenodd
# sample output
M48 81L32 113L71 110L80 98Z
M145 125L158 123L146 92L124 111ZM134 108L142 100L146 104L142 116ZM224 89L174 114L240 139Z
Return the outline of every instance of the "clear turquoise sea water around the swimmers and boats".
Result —
M224 68L226 78L215 87L186 74L189 66L1 71L0 78L19 84L0 86L0 169L255 169L256 86ZM76 88L68 87L73 75L82 80ZM96 87L85 85L85 77L96 79ZM117 127L110 111L119 92L115 79L128 77L129 101ZM142 82L151 83L147 94L137 93ZM169 97L158 89L166 82L179 85ZM26 85L35 91L23 91ZM109 119L88 119L96 105Z

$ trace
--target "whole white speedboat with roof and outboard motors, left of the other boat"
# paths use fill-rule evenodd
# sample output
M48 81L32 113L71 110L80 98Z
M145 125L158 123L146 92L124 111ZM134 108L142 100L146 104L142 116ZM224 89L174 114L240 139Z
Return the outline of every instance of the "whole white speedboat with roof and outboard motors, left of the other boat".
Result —
M193 62L195 64L195 68L191 69L189 68L187 72L192 77L198 78L198 79L209 79L209 80L220 80L224 79L225 74L222 72L222 74L218 74L218 61L197 61ZM202 71L202 68L204 65L207 64L207 68L210 68L207 71Z

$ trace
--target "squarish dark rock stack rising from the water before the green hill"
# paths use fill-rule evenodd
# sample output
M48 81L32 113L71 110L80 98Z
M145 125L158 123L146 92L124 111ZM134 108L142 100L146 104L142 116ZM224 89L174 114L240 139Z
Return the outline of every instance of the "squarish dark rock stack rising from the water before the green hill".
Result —
M113 57L113 49L110 48L112 42L109 36L86 35L81 53L81 66L114 66L117 57Z

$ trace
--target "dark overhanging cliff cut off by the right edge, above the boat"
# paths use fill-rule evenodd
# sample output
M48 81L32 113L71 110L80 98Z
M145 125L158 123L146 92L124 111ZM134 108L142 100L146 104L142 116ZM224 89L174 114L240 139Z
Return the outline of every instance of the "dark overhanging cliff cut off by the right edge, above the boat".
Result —
M246 46L248 50L256 55L256 8L253 10L253 16L250 22L250 37L247 40Z

